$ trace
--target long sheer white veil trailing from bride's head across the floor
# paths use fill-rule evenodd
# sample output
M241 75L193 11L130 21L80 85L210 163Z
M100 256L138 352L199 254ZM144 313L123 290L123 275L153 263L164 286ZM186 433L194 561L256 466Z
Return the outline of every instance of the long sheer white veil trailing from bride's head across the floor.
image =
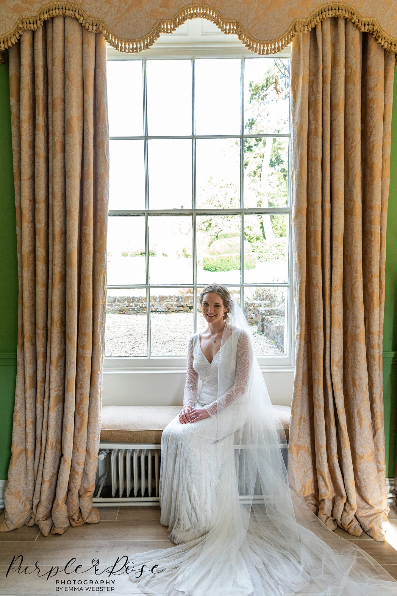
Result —
M190 429L221 447L216 485L202 495L211 527L195 540L134 555L135 569L158 565L158 572L132 572L130 579L150 596L397 595L392 576L329 530L293 486L251 330L232 300L218 358L217 412Z

